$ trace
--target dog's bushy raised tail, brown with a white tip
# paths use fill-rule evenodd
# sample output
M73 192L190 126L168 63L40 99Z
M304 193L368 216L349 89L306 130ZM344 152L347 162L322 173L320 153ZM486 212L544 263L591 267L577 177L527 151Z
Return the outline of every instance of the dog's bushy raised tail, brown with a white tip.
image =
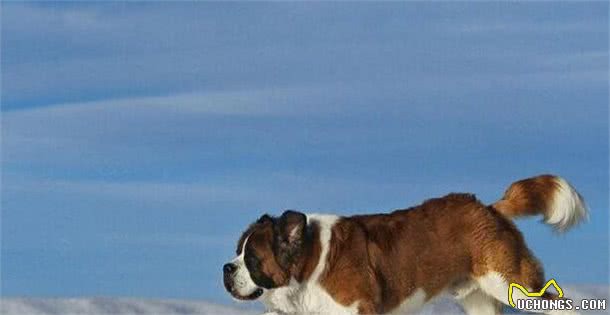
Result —
M565 179L554 175L512 183L493 207L508 218L542 214L544 222L558 232L589 218L582 196Z

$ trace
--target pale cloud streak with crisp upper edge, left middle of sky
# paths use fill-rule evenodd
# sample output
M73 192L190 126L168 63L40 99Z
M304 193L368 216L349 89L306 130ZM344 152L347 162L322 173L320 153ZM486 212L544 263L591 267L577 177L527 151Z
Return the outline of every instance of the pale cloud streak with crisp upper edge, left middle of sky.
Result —
M175 161L221 154L214 144L226 139L243 142L239 149L245 152L253 145L248 139L267 131L240 122L261 126L252 119L340 111L325 106L330 100L320 101L323 93L290 88L189 93L4 112L3 162L78 169L83 164L133 165L141 159Z

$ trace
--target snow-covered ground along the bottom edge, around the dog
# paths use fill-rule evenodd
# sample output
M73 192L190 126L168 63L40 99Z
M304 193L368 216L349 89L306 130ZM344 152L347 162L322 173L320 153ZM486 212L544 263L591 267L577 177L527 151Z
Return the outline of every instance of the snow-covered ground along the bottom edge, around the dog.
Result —
M566 296L575 300L583 297L608 299L610 292L608 286L593 285L566 286L563 289ZM235 306L222 306L201 301L132 298L3 298L0 305L2 315L249 315L256 313ZM451 300L439 298L426 306L420 314L463 313ZM597 312L596 314L610 314L610 312Z

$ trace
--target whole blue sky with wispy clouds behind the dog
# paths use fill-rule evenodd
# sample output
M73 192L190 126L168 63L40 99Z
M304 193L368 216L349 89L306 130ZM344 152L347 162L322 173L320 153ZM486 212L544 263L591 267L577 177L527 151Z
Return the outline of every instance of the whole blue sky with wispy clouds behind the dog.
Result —
M608 283L608 4L2 3L2 294L230 303L263 212L499 198L557 173L591 221L519 221Z

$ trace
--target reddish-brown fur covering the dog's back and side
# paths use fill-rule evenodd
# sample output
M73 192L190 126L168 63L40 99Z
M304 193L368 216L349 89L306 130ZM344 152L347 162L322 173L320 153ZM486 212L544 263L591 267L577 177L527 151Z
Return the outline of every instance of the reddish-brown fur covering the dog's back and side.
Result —
M361 314L390 312L418 288L430 298L490 268L525 283L542 279L513 223L470 194L342 218L327 266L324 288L343 305L359 301Z

